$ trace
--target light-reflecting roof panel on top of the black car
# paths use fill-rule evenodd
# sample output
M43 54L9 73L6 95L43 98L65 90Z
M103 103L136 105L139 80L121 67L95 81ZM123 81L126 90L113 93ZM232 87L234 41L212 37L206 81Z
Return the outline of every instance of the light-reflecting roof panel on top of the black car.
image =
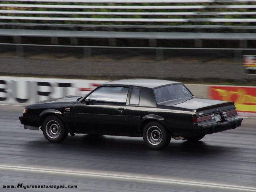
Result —
M103 83L102 85L127 85L147 88L156 88L168 84L176 84L179 82L159 79L124 79Z

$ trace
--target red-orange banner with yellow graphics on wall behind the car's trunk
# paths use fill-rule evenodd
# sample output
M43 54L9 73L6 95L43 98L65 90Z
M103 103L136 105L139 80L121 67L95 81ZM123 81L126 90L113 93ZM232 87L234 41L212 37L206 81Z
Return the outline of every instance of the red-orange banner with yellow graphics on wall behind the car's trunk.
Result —
M209 86L209 98L234 101L239 112L256 113L256 87Z

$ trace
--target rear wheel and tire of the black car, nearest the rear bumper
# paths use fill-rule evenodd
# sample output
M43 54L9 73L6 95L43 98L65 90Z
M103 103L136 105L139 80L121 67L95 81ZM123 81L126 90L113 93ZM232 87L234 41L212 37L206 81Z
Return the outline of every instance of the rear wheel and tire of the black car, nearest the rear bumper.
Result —
M143 129L143 140L151 149L162 149L170 143L171 135L161 123L152 121Z

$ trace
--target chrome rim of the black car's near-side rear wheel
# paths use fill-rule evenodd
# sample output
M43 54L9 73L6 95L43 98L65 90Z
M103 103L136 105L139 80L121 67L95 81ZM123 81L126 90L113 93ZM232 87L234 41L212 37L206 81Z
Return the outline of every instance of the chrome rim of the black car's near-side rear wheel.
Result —
M152 145L158 145L163 139L163 134L157 126L151 126L147 130L147 140Z

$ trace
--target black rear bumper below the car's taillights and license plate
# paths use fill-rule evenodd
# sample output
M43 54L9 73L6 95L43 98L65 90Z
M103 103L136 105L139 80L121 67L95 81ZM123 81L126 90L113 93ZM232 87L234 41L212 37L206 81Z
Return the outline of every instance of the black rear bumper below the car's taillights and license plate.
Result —
M225 130L235 129L242 124L243 118L240 116L236 116L233 118L226 118L222 122L216 122L213 124L201 124L200 126L202 130L202 134L213 134L217 132L222 132Z

